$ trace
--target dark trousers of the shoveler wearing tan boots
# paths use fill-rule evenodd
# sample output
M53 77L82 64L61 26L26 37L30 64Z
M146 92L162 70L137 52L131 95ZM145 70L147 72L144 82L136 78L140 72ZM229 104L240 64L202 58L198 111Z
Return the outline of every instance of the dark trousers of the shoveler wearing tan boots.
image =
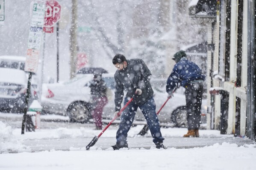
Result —
M200 127L202 95L203 83L192 83L185 87L188 130Z

